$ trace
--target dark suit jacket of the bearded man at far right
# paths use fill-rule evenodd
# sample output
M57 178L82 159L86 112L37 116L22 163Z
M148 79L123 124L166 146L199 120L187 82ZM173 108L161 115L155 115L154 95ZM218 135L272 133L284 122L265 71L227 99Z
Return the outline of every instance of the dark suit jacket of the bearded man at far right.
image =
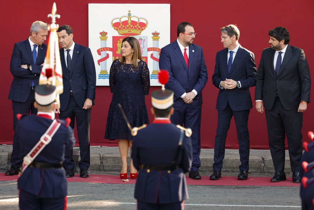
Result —
M265 109L271 110L277 90L286 110L298 109L301 100L310 102L311 76L304 51L288 44L278 76L274 56L272 48L263 50L256 76L255 100L264 100Z

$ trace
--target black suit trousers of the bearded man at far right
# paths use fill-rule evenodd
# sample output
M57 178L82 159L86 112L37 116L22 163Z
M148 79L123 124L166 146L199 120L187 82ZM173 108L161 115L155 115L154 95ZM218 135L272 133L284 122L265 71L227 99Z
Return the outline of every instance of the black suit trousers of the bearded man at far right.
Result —
M300 171L302 156L302 121L303 113L298 109L286 110L279 97L271 110L266 110L269 149L276 172L284 172L285 145L287 136L290 166L292 172Z

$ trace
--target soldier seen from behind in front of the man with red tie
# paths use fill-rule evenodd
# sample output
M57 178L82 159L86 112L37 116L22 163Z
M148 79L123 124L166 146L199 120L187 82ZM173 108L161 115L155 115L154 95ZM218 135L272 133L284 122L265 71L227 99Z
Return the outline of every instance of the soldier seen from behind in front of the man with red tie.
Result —
M153 123L138 130L133 139L137 209L184 209L184 200L188 199L185 173L192 164L192 132L171 124L171 90L154 91L152 105Z

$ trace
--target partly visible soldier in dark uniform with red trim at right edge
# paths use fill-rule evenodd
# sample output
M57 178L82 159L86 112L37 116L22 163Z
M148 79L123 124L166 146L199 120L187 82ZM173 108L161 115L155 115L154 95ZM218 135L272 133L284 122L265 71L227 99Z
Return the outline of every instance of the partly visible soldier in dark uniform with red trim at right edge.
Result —
M304 143L303 148L305 152L301 158L300 169L302 209L314 210L314 142Z

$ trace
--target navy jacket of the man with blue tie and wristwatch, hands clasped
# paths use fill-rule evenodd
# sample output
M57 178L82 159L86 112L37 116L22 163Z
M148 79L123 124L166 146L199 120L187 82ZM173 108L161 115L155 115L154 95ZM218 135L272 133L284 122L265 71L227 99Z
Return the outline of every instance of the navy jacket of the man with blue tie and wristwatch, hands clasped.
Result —
M219 88L216 109L225 110L227 103L229 103L230 108L234 111L251 109L252 99L249 88L255 86L256 83L254 54L240 45L229 74L227 56L228 48L217 52L215 70L212 77L213 84L219 88L221 81L233 79L234 81L241 82L241 88Z

